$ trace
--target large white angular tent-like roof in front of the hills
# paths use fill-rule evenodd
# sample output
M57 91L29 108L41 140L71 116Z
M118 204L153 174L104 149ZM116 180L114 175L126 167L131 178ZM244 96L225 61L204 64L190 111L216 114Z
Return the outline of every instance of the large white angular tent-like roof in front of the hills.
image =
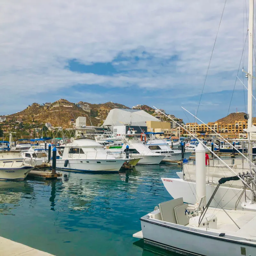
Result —
M109 114L103 124L113 126L131 125L131 126L146 126L146 121L158 121L156 117L151 116L144 110L114 108L109 111Z

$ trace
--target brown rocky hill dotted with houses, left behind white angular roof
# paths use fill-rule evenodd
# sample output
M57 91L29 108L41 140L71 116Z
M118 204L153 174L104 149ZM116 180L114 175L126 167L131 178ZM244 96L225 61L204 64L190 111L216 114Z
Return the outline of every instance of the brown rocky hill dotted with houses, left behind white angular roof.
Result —
M8 118L17 120L22 119L23 123L51 123L52 126L61 126L63 128L71 128L70 121L78 116L86 116L86 125L98 125L102 120L106 119L109 110L113 108L128 108L119 103L106 102L102 104L91 104L80 101L79 104L88 104L90 112L78 107L75 103L65 99L57 100L53 103L45 103L40 105L33 103L26 109L9 115Z

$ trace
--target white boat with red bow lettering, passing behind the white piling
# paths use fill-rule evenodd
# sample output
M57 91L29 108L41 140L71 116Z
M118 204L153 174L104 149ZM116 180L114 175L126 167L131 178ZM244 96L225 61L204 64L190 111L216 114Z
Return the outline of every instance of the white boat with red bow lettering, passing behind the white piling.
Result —
M234 172L247 173L249 172L249 164L242 159L223 159ZM196 164L195 160L189 161L182 166L182 172L176 172L179 178L162 177L161 180L168 193L173 198L182 197L185 202L190 204L196 203ZM210 160L210 165L206 166L206 196L209 197L214 192L218 185L218 180L221 177L231 176L233 173L226 166L220 163L217 159ZM244 184L241 180L230 181L226 184L221 184L215 199L218 204L213 201L211 206L225 207L226 209L242 209L241 196L244 194ZM223 197L225 195L225 197ZM251 198L251 191L246 189L246 195Z

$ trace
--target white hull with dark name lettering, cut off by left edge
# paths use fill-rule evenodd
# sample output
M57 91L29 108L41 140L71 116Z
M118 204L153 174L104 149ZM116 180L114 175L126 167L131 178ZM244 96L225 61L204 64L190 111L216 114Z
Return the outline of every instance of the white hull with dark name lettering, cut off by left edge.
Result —
M0 180L24 180L34 166L20 168L0 168Z

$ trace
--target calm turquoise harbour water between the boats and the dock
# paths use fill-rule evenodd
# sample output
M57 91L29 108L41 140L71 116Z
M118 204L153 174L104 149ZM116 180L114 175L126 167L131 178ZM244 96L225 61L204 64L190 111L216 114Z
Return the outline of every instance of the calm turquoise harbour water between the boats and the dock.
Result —
M177 165L118 174L62 172L58 180L0 182L0 236L54 255L177 255L143 247L139 218L171 196ZM136 242L137 241L137 242ZM134 242L136 242L134 244Z

